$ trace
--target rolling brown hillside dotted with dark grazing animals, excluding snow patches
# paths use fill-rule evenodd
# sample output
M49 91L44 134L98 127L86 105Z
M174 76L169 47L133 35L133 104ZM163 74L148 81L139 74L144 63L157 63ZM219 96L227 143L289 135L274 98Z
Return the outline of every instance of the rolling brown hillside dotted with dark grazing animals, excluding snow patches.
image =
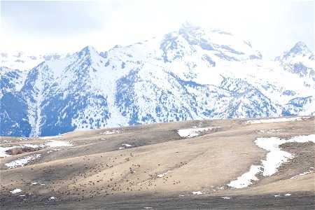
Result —
M259 180L246 188L228 186L266 159L268 151L258 147L256 139L312 135L314 116L279 123L245 123L248 120L253 119L119 127L70 132L54 139L1 137L1 147L46 144L0 159L1 207L314 209L312 141L282 144L281 151L294 158L272 176L258 173ZM211 129L192 138L178 133L193 127ZM73 146L48 147L53 141ZM6 165L29 156L33 158L24 166ZM21 192L15 193L16 189Z

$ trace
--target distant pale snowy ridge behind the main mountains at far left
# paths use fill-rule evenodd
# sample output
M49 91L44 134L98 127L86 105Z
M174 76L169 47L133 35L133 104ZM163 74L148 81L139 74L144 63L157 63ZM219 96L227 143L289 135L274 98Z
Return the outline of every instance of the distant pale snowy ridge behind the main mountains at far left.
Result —
M6 66L10 69L29 70L41 62L61 59L70 54L48 53L36 54L27 52L0 52L0 66Z

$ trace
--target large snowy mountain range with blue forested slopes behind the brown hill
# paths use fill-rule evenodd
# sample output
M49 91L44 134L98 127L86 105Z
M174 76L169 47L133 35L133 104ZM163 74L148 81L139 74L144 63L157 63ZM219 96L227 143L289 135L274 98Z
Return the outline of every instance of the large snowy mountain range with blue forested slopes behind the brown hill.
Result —
M311 53L297 45L268 61L232 34L186 23L165 36L106 52L89 46L27 73L2 67L1 135L313 115L314 78L286 65ZM300 62L312 65L312 55ZM309 67L314 73L314 66Z

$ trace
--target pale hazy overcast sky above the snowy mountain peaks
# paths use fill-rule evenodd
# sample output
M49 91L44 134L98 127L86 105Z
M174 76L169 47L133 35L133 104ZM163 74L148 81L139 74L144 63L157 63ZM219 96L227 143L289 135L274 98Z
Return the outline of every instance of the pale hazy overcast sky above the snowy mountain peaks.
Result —
M314 1L1 1L0 51L99 52L179 29L223 29L274 59L303 41L314 52Z

